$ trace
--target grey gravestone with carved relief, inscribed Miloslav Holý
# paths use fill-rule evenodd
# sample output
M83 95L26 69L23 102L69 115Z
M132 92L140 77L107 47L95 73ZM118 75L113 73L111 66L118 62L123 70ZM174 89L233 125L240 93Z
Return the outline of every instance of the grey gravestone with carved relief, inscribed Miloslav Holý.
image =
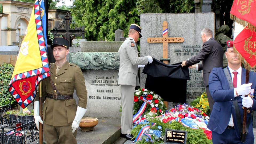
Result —
M85 117L121 118L119 109L122 97L121 87L117 85L117 52L122 43L81 42L81 49L70 47L69 62L77 64L85 77L88 92ZM111 60L114 60L113 63ZM78 98L74 98L78 102Z

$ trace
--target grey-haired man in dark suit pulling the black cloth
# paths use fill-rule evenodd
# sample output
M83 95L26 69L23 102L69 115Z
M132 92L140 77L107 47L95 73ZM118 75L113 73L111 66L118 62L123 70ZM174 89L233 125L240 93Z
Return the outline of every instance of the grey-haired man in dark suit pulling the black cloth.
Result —
M213 38L213 31L208 28L204 28L201 31L201 38L203 41L203 47L199 53L183 61L181 66L189 66L189 68L197 68L197 70L203 70L203 84L206 87L206 94L210 106L210 110L213 109L214 100L209 91L209 74L214 67L222 67L223 61L223 49L222 46ZM195 65L202 61L201 65Z

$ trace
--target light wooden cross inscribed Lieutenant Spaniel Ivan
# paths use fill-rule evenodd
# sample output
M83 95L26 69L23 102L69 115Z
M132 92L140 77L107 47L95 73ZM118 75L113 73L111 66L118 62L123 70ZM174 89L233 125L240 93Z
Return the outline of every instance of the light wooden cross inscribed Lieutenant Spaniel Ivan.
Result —
M182 37L169 37L168 38L168 25L167 22L163 22L163 37L162 38L147 38L149 43L163 43L163 58L160 59L163 63L168 64L170 58L168 58L168 42L183 42L184 38Z

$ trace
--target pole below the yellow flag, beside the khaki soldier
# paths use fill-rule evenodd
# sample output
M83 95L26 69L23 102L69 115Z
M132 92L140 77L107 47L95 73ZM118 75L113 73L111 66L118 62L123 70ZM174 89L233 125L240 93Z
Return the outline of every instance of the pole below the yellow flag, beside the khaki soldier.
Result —
M42 82L39 82L38 91L39 91L39 115L43 119L43 98L42 98ZM39 144L43 144L43 124L39 122Z

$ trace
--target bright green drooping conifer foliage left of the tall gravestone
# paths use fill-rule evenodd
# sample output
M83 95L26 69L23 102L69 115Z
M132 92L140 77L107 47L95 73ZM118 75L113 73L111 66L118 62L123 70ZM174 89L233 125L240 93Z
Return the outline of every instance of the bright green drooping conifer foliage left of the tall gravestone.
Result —
M85 26L87 41L103 41L105 37L113 41L117 29L124 30L124 36L128 37L130 24L139 24L133 0L75 0L70 10L76 22L73 26Z

